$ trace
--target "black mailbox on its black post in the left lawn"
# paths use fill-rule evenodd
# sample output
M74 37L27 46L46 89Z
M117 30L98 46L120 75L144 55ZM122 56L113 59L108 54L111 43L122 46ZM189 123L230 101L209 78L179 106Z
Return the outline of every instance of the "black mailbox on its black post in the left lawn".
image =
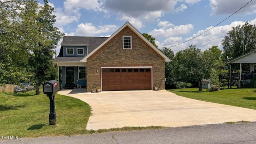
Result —
M55 112L55 94L58 91L59 85L57 80L50 80L44 83L43 91L50 99L50 114L49 124L56 124L56 112Z

